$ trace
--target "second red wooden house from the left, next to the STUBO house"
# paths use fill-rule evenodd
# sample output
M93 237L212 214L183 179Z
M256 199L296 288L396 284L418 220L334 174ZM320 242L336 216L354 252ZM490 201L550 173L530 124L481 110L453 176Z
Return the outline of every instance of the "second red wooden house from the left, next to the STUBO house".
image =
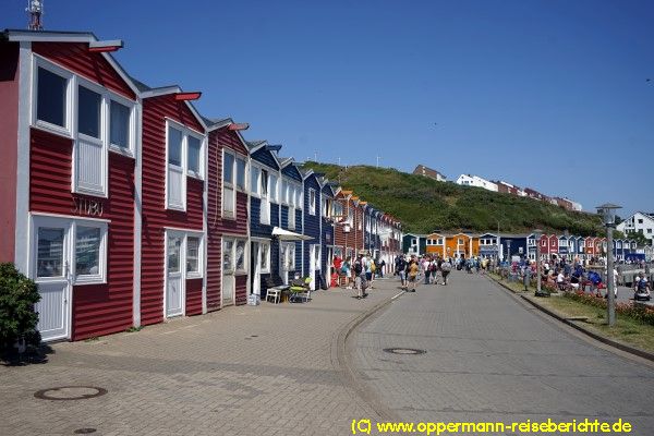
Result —
M206 128L177 86L143 98L141 324L206 312ZM196 96L191 96L195 98Z

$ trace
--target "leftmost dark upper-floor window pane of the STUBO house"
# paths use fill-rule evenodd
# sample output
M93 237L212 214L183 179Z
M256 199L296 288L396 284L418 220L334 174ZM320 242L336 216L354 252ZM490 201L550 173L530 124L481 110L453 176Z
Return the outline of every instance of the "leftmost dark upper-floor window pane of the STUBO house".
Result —
M65 126L65 78L38 69L37 119Z

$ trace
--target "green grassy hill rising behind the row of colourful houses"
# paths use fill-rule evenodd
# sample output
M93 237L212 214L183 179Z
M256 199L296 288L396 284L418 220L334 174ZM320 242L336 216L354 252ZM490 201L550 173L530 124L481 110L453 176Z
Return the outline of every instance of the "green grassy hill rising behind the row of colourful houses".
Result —
M437 182L395 169L368 166L339 167L305 162L305 168L322 172L330 181L370 204L402 220L404 231L529 232L534 228L570 234L601 234L595 214L568 211L559 206L531 198L499 194L481 187Z

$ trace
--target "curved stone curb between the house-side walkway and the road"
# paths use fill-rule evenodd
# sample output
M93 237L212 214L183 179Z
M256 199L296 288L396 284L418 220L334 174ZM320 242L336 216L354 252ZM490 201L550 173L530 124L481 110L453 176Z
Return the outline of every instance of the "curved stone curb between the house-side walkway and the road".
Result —
M377 415L386 421L397 421L398 416L395 415L386 405L377 401L376 396L361 382L359 373L351 364L348 356L348 339L350 335L367 318L392 303L398 295L404 294L400 292L393 296L387 298L386 300L375 304L372 308L366 312L359 314L354 319L351 319L346 326L336 331L331 338L331 364L341 373L346 380L346 386L350 386L354 392L367 403Z

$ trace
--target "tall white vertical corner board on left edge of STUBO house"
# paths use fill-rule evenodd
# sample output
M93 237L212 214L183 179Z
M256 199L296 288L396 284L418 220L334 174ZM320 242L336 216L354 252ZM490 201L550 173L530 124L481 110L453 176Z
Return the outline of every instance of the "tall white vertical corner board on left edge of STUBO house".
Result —
M17 101L17 144L16 144L16 203L4 205L15 207L14 265L28 274L29 266L29 125L34 110L32 94L34 63L32 44L21 41L19 49L19 101Z

